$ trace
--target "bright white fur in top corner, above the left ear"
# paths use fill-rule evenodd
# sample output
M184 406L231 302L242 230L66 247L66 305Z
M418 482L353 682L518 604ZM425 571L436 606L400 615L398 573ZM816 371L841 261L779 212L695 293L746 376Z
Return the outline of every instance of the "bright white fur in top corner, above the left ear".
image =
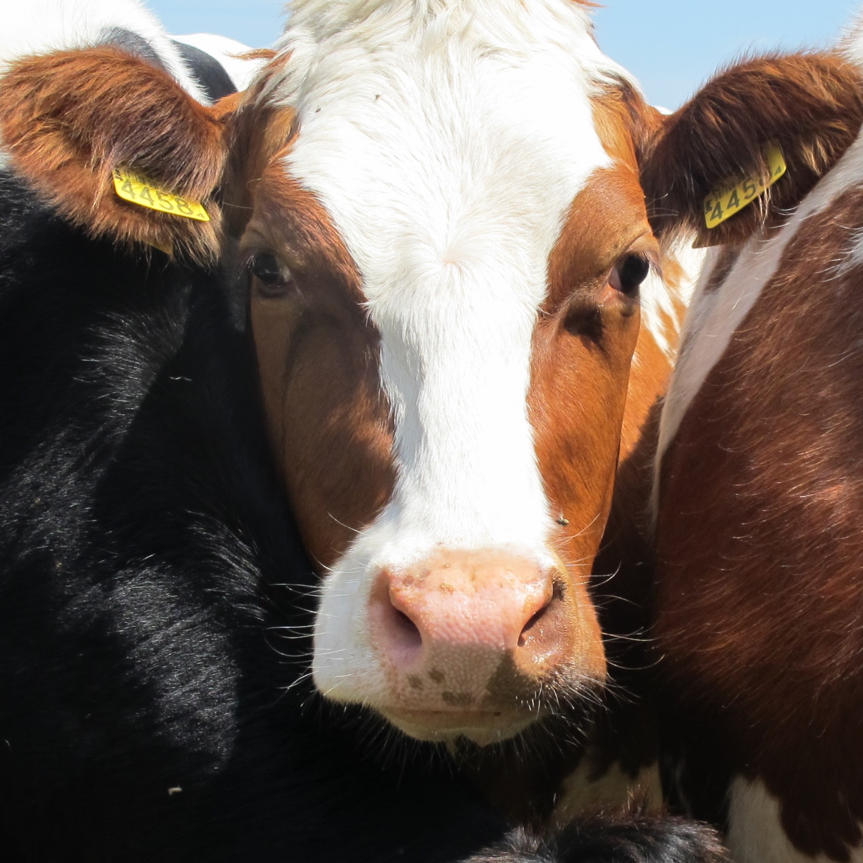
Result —
M198 102L204 92L186 69L180 52L158 19L137 0L22 0L7 3L0 28L0 72L26 54L87 47L104 31L125 28L149 42L165 68Z

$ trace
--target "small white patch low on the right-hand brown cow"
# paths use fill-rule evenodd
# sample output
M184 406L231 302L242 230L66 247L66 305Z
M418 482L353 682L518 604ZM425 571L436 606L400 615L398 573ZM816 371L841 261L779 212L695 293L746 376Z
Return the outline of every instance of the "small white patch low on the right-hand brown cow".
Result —
M737 777L728 791L728 849L736 863L830 863L823 854L798 851L782 827L779 801L756 779ZM863 847L849 848L851 863L863 863Z

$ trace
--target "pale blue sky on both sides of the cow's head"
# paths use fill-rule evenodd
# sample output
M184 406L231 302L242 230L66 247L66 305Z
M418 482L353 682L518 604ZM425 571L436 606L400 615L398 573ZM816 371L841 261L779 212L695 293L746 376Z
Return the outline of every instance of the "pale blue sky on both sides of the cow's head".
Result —
M282 0L149 0L173 33L221 33L248 45L280 33ZM654 104L674 108L741 52L828 44L860 0L606 0L595 10L603 50Z

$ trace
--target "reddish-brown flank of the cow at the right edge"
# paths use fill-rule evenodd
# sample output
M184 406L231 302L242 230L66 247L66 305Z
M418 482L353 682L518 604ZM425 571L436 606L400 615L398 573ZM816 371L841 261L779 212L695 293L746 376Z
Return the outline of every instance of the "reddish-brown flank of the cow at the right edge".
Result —
M800 228L665 454L658 511L657 651L696 814L722 777L760 778L795 846L834 860L863 838L863 272L826 265L861 207L846 192Z

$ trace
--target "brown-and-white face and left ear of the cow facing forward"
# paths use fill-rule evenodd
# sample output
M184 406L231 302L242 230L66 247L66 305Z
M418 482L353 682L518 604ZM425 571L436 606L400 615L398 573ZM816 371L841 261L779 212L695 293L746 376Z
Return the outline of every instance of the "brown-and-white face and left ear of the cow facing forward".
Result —
M587 5L297 0L213 110L105 47L0 86L5 146L67 217L248 280L324 576L315 683L421 740L505 740L608 674L591 564L619 460L617 510L644 485L686 279L639 183L660 117ZM118 166L211 222L120 200Z

